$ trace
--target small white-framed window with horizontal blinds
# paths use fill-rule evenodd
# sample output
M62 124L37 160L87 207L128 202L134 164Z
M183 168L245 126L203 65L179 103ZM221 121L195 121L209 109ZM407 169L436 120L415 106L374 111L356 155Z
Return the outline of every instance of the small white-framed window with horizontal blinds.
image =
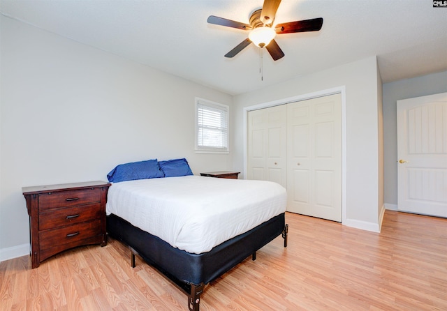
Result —
M227 105L196 98L196 151L228 153Z

